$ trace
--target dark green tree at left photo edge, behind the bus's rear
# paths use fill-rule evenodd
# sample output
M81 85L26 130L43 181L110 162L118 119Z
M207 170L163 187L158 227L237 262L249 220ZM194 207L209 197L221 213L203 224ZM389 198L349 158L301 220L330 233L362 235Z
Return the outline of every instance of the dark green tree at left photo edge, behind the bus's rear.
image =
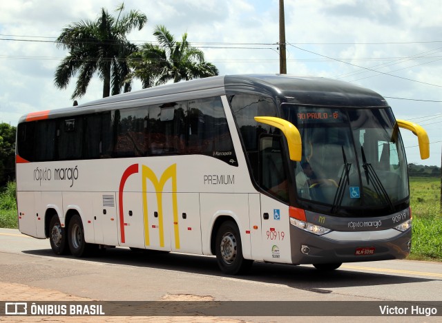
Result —
M0 187L15 179L16 127L0 123Z

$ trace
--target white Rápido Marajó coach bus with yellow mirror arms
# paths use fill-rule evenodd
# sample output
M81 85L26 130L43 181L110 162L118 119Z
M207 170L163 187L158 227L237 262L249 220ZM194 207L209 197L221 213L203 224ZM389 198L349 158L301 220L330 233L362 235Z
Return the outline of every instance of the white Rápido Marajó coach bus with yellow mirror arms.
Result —
M283 75L215 76L22 116L19 229L57 254L106 247L313 264L405 258L407 162L385 99Z

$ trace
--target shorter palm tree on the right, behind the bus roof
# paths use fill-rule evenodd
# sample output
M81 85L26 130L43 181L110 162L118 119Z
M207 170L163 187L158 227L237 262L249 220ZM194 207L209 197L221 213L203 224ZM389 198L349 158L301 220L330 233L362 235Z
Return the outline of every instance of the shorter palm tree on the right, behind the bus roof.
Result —
M176 83L219 74L215 65L204 61L202 50L187 41L187 33L182 35L181 41L176 41L164 25L157 25L153 34L160 45L145 43L140 52L129 56L133 72L128 81L137 78L143 87L151 87L168 81Z

